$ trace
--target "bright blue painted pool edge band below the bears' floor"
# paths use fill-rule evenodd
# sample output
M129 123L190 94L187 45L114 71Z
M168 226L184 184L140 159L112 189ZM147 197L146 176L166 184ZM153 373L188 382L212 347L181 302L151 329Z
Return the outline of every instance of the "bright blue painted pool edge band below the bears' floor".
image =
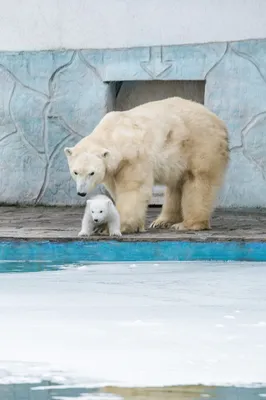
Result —
M0 261L266 261L266 242L2 241ZM1 269L1 264L0 264Z

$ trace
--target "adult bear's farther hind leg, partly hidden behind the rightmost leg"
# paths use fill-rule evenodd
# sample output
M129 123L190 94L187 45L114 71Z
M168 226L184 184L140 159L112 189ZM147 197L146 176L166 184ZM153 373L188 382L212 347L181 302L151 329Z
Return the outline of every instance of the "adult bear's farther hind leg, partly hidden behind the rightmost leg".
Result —
M166 187L161 214L150 225L150 228L164 229L182 221L181 187Z

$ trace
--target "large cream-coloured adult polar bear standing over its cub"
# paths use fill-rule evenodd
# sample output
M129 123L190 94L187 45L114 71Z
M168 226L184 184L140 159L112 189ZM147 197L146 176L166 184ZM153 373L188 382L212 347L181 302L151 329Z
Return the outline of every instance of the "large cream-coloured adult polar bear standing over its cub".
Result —
M111 193L121 232L144 231L154 184L166 191L152 227L204 230L228 164L228 134L204 106L173 97L106 114L65 154L80 196L100 183Z

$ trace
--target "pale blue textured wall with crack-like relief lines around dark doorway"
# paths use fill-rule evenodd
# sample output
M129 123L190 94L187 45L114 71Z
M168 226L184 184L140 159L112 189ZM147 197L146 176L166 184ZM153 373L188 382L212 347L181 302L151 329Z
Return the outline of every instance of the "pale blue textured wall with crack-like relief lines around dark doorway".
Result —
M0 202L76 204L63 148L88 134L131 80L206 80L230 130L220 205L266 206L266 41L0 53Z

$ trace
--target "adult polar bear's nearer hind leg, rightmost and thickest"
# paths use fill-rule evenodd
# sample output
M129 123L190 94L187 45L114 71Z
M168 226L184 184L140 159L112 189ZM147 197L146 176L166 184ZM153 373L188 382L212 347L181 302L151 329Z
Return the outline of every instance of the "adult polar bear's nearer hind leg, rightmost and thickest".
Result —
M219 185L207 174L189 174L182 188L183 222L174 224L176 230L211 229L210 219Z

